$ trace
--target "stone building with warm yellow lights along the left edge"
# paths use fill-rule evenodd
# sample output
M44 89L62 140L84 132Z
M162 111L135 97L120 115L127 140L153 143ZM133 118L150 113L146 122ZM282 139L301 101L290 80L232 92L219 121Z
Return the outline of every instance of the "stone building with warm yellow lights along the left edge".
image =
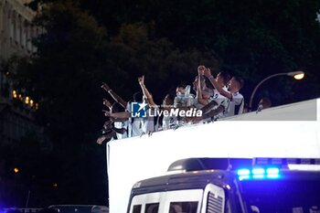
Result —
M16 88L11 77L14 66L5 68L13 56L29 56L37 49L32 38L37 37L37 27L32 25L36 12L23 0L0 0L0 206L24 207L25 195L30 188L21 181L21 176L31 178L28 171L19 171L13 164L16 147L31 142L46 142L43 127L34 118L38 104L31 94ZM29 152L29 150L26 150ZM32 153L32 152L31 152ZM36 156L35 156L36 157ZM21 161L21 160L20 160ZM17 167L14 167L17 166ZM22 165L21 165L22 166ZM21 175L23 172L24 175ZM1 209L0 209L1 211Z

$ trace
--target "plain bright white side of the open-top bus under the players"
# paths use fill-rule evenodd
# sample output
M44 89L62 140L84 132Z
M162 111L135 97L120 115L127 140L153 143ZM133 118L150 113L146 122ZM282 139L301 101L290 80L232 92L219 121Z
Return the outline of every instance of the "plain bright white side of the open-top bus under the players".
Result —
M126 211L134 183L189 157L320 158L320 99L183 126L107 144L111 213Z

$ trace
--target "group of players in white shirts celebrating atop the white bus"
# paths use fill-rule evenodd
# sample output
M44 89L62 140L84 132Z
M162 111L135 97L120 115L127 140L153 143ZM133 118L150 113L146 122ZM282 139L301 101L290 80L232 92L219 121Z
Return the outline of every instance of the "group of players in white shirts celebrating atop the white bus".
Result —
M144 76L138 78L141 91L133 94L132 101L123 99L109 87L102 83L101 88L107 91L114 103L103 99L103 110L107 121L104 122L101 136L97 139L98 144L112 139L123 139L133 136L149 136L157 131L175 129L181 125L197 122L213 122L221 118L229 117L246 112L244 110L244 98L240 93L243 80L238 76L230 77L229 73L220 71L216 77L212 76L211 70L200 65L197 68L197 76L190 85L179 84L176 93L167 93L162 104L156 104L155 100L144 84ZM189 116L176 116L160 113L160 116L146 113L144 117L132 116L132 103L139 102L146 109L155 111L188 111L196 109L195 114ZM258 108L271 106L269 99L261 100Z

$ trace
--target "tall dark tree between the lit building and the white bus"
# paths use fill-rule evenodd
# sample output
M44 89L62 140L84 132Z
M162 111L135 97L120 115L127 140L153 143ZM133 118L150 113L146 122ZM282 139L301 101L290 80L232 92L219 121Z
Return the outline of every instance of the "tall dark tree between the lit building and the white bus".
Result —
M99 164L99 160L104 159L101 147L89 150L83 149L83 144L94 143L93 134L103 121L99 99L101 80L97 76L103 72L106 30L71 1L46 5L35 24L44 33L34 40L37 52L18 63L15 83L39 101L37 119L46 128L54 146L52 154L56 160L42 158L40 161L43 167L51 164L56 168L46 176L56 179L55 193L59 196L48 198L80 203L85 187L90 189L87 193L91 197L102 196L97 203L105 204L105 176L97 178L102 169L87 175L85 169L89 165L83 163L80 155L86 155L85 161L91 164ZM91 183L100 186L90 187ZM52 185L48 188L52 189ZM104 192L101 188L105 188ZM48 191L45 187L39 190L43 194Z

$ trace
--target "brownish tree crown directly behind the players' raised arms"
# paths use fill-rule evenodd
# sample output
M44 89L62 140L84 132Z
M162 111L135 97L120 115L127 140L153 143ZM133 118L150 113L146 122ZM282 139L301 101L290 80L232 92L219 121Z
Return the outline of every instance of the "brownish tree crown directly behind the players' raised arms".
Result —
M151 37L150 32L152 27L135 23L123 25L119 34L112 37L107 59L114 63L112 66L116 69L108 71L116 74L117 89L125 91L126 98L141 90L137 77L143 74L159 102L181 81L192 82L199 63L218 67L212 54L197 49L181 51L166 38Z

